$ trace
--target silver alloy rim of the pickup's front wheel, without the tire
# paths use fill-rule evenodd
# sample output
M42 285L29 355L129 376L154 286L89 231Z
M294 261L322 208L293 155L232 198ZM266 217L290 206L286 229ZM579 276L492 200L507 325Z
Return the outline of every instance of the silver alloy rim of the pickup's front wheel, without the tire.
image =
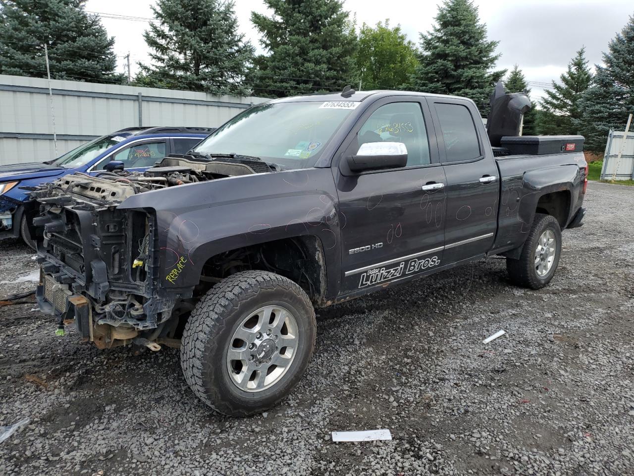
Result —
M229 343L227 370L245 392L275 385L295 358L298 327L295 317L280 306L266 306L244 319Z

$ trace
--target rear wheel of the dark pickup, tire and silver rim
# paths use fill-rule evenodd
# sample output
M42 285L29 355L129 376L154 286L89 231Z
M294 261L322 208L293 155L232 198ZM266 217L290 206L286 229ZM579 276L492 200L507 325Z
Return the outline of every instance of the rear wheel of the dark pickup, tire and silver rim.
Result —
M541 289L555 275L560 254L559 223L552 215L536 213L520 258L507 258L508 277L517 286Z

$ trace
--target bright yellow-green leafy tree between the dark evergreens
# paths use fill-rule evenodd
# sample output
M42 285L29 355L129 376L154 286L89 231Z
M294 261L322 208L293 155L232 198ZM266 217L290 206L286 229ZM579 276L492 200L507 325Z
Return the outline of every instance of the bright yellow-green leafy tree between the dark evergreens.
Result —
M363 23L359 48L354 56L356 74L363 89L397 89L415 71L418 60L415 45L401 31L390 28L389 20L376 27ZM356 81L355 81L356 84Z

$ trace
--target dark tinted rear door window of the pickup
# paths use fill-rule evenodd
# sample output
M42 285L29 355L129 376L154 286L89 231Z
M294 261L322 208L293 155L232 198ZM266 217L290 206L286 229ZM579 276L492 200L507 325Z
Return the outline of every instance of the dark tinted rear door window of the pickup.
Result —
M480 145L469 109L462 104L436 103L435 106L443 131L445 161L462 162L479 157Z

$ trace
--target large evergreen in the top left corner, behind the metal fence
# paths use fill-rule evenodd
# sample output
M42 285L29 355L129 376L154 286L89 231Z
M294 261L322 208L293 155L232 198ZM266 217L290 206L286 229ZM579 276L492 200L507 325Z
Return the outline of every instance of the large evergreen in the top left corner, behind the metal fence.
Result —
M86 0L0 0L0 74L119 83L114 38Z

